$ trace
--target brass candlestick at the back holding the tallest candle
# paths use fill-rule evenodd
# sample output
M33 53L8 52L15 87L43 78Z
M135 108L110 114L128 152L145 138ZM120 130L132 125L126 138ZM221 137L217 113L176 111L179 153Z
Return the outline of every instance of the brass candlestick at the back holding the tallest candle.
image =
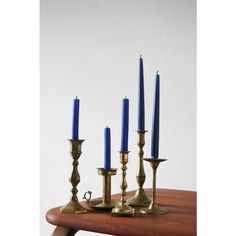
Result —
M138 146L139 146L139 152L138 152L138 172L136 175L136 180L138 183L139 188L135 192L134 196L129 198L127 200L127 203L131 206L148 206L151 202L151 200L147 197L144 189L143 189L143 184L146 179L146 175L144 172L144 167L143 167L143 147L145 145L145 133L147 131L141 131L137 130L138 133Z

